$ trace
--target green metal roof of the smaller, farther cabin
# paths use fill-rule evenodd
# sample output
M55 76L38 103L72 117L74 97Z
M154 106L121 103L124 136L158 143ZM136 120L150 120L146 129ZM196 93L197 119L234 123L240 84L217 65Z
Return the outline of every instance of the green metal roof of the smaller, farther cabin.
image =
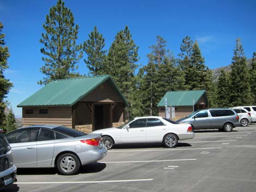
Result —
M205 94L205 90L192 91L168 91L163 96L157 107L164 106L165 98L167 98L167 106L193 106L200 97Z

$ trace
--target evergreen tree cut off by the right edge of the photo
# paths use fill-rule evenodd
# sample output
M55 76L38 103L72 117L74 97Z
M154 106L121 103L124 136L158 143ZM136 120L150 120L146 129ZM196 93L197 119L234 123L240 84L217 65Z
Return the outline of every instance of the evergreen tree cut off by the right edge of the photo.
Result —
M256 104L256 52L253 53L250 72L250 84L252 91L252 104Z

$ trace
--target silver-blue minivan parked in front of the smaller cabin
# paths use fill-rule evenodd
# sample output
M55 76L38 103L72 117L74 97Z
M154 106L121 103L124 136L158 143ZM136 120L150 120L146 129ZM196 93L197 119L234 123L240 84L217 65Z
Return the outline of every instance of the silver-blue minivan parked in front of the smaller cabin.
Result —
M196 129L220 129L231 132L236 126L240 126L239 116L233 109L203 109L178 120L180 123L190 123Z

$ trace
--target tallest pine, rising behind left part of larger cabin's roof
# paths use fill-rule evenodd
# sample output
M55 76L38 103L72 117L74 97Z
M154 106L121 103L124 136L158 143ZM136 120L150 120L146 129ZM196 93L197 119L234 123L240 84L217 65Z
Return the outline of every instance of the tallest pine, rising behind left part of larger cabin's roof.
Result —
M76 45L78 26L74 23L71 10L64 6L62 0L50 9L43 25L46 33L42 34L40 42L44 44L41 53L45 65L40 71L46 75L39 84L47 84L52 80L77 77L76 63L82 58L82 45Z

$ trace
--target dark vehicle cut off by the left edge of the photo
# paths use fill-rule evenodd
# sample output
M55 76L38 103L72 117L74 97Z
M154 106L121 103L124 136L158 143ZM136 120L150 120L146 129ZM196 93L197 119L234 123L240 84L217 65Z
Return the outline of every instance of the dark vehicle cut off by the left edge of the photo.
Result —
M13 150L0 129L0 188L17 181L17 168L13 164Z

